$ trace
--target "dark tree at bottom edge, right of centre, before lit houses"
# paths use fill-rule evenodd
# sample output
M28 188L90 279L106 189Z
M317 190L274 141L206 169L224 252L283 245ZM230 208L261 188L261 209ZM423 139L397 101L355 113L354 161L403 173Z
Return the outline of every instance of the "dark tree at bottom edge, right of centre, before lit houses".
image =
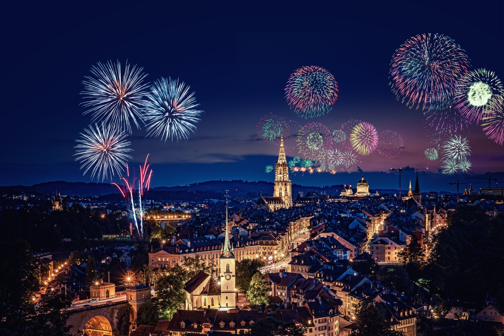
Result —
M385 320L385 307L374 301L361 301L357 306L355 324L352 331L356 336L401 336L402 331L392 330L392 325Z

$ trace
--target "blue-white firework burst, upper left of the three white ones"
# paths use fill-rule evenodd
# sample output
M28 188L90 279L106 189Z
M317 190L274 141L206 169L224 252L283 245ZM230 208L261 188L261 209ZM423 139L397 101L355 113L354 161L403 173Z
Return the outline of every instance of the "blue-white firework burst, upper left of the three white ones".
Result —
M131 118L140 128L137 119L142 119L149 93L143 68L126 62L122 71L119 61L116 64L98 62L91 66L91 74L82 81L81 95L85 101L81 105L87 109L83 114L90 113L92 121L104 121L112 128L119 127L130 133Z

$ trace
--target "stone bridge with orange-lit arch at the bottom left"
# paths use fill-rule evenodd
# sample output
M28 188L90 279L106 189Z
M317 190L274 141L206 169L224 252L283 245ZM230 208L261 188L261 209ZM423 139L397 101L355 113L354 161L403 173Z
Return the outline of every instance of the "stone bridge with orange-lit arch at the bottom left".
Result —
M74 309L68 324L74 335L119 336L130 334L130 305L128 301L119 301Z

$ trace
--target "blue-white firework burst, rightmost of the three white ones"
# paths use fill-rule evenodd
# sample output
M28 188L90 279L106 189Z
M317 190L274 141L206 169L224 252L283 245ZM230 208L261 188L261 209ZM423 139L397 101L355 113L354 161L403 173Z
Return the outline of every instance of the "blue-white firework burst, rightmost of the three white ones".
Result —
M195 124L200 121L202 110L196 109L194 92L188 94L191 87L161 77L151 86L150 104L146 108L144 120L147 124L148 137L161 137L164 142L188 140L196 131Z

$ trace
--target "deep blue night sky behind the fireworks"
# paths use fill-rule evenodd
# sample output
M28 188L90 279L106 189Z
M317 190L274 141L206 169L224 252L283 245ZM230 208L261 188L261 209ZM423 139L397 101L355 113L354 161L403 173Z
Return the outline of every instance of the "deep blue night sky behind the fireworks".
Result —
M205 111L187 142L165 144L134 130L132 164L150 153L154 186L273 180L264 167L275 163L278 147L260 140L256 125L270 113L301 124L317 121L297 117L284 98L287 79L303 65L322 66L335 76L339 97L327 115L333 121L362 119L403 137L398 157L365 157L364 175L422 168L420 148L428 140L423 115L391 92L392 55L414 35L445 34L466 51L471 70L492 70L504 80L504 9L502 1L472 7L405 3L4 7L0 185L91 181L73 158L75 140L91 121L82 115L79 93L90 66L109 59L143 66L149 81L180 78ZM504 147L488 140L481 126L472 125L469 140L473 174L504 171ZM356 182L344 173L292 179L309 185Z

